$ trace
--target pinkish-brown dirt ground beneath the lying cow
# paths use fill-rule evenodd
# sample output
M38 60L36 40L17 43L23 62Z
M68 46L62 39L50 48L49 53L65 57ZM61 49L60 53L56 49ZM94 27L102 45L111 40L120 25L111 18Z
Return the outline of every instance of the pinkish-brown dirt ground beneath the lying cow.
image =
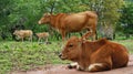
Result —
M133 74L133 55L130 56L130 62L127 67L115 68L105 72L81 72L76 70L65 68L66 65L47 65L43 68L35 71L27 71L27 72L12 72L11 74Z

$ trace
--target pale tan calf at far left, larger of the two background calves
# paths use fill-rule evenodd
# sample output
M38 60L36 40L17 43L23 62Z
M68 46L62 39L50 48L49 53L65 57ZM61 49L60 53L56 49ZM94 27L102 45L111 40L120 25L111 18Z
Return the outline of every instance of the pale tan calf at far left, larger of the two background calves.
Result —
M29 38L29 40L32 41L33 32L31 30L16 30L13 34L21 39L23 42L24 38Z

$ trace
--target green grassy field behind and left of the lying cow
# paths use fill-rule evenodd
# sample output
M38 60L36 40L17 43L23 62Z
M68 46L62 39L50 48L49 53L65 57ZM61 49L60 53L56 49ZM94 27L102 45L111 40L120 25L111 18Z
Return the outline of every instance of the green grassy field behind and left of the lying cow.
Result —
M133 53L133 40L114 41L125 45ZM38 44L37 42L0 42L0 74L10 71L28 71L45 64L66 64L58 57L61 42Z

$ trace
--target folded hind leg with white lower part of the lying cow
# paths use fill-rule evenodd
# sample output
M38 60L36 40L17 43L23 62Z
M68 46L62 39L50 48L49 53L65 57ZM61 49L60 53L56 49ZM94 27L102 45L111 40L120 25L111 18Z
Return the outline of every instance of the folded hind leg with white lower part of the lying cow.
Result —
M113 67L112 57L110 55L111 53L110 51L109 52L105 51L106 49L101 49L99 50L99 52L96 52L96 54L91 55L92 64L89 65L88 71L100 72L100 71L108 71ZM103 52L105 52L105 54L102 54Z

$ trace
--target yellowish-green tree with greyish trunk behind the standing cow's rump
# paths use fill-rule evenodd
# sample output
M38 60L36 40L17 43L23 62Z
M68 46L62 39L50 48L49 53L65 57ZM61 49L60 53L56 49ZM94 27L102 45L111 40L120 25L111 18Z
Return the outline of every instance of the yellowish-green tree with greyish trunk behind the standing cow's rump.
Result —
M123 4L123 0L90 0L89 6L91 10L96 11L99 14L98 29L102 36L105 35L105 38L113 39L113 33L115 32L115 27L121 15L120 10ZM106 30L109 32L111 31L111 33L104 30L106 28L112 28L111 30Z

